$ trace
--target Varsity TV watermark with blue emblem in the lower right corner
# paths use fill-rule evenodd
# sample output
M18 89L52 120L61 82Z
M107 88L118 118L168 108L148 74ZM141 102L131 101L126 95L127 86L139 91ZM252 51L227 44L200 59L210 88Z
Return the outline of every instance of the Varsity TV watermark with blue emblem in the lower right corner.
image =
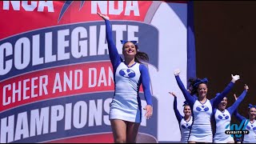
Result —
M225 134L231 134L233 138L234 138L234 134L236 138L241 138L243 134L249 134L249 130L246 130L246 126L248 122L249 120L243 119L239 127L237 124L233 124L231 126L230 124L228 124L225 128L227 129L230 126L230 130L226 130Z

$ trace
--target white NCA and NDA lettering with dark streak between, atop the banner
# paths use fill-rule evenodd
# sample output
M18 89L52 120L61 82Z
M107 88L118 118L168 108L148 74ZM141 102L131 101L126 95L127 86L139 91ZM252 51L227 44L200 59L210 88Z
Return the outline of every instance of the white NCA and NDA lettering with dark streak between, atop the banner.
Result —
M63 3L58 22L60 22L62 16L73 2L74 1L66 1ZM85 1L80 2L78 11L82 9L84 4ZM38 12L54 12L54 1L3 1L3 10L10 10L11 6L14 10L21 10L22 7L25 11L34 11L37 8ZM127 16L130 16L130 14L140 16L138 1L126 1L126 3L123 1L91 1L91 14L97 14L98 9L102 14L119 15L124 12L124 15Z

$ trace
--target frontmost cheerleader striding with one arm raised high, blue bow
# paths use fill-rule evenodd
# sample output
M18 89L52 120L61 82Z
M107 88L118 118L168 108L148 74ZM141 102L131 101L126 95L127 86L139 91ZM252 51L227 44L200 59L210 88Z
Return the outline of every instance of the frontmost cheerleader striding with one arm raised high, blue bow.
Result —
M110 53L110 62L114 70L114 97L110 103L110 123L114 142L136 142L138 128L142 122L142 105L139 87L142 85L146 99L146 118L153 114L152 95L150 92L150 75L140 60L148 61L146 53L138 51L136 41L122 41L122 54L112 39L109 17L98 13L106 24L106 40Z

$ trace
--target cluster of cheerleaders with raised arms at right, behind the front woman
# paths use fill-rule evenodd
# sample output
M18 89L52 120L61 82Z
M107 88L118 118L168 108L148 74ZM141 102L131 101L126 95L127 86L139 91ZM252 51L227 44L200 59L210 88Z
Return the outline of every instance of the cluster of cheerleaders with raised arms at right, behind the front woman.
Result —
M238 106L246 97L248 86L244 86L242 94L237 98L234 94L235 102L232 106L227 106L227 94L233 88L234 83L240 78L239 75L231 75L232 80L221 92L216 94L215 98L207 98L208 79L207 78L190 78L189 90L186 90L181 79L179 78L180 70L174 70L174 76L179 88L182 90L186 101L183 106L182 116L177 108L177 96L174 92L170 92L174 96L174 113L181 130L182 143L197 142L214 142L214 143L256 143L256 106L249 104L248 118L238 114ZM226 134L226 130L230 130L231 117L234 114L239 122L249 131L249 134L235 133ZM212 126L215 127L213 131ZM240 136L239 136L240 135ZM242 136L242 137L241 137Z

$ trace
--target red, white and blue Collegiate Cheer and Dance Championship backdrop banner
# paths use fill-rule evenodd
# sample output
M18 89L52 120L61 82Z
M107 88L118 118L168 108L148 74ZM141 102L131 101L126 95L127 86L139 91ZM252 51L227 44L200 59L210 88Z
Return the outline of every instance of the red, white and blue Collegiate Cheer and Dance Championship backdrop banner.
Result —
M0 142L114 142L109 120L113 68L106 42L138 41L147 63L154 114L142 112L138 142L178 142L173 110L195 76L194 30L186 1L0 2ZM192 22L193 23L193 22ZM146 106L142 86L139 96Z

